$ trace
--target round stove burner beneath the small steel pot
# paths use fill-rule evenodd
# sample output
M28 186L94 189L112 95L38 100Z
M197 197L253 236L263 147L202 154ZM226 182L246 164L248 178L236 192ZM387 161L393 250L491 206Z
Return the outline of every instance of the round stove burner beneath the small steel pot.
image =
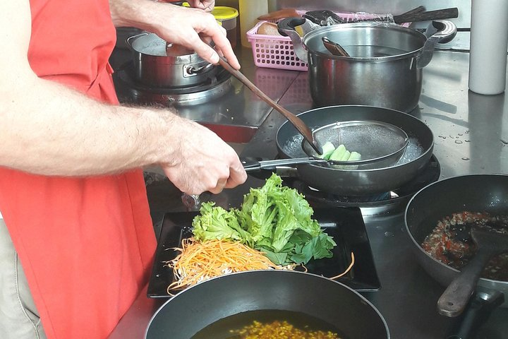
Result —
M135 79L134 64L128 61L114 73L121 102L162 105L196 105L224 95L231 88L231 74L220 66L200 84L185 87L157 87Z

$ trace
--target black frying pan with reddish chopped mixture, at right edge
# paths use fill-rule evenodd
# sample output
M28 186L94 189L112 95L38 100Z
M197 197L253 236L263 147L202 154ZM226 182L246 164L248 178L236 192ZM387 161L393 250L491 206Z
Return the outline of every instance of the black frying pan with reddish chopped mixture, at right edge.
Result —
M437 261L422 248L423 239L447 215L464 210L508 214L508 175L471 174L440 180L418 191L406 207L405 222L413 250L421 266L441 285L448 286L459 270ZM506 296L502 307L508 307L508 282L480 278L477 294ZM437 300L436 300L437 302ZM467 317L466 317L467 318Z

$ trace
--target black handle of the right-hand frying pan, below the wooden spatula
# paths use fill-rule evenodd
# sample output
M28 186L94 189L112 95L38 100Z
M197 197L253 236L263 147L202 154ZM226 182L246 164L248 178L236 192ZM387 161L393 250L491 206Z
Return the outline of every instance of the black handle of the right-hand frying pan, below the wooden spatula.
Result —
M498 290L478 287L459 325L447 339L473 338L480 325L487 321L492 311L504 302L504 294Z

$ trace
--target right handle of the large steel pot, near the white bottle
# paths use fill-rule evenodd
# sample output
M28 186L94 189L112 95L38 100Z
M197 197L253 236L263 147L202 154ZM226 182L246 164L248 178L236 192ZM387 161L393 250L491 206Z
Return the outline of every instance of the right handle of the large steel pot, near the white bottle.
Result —
M456 25L448 20L433 20L425 30L427 41L423 44L421 54L416 57L416 68L423 69L432 60L435 44L445 44L456 35Z

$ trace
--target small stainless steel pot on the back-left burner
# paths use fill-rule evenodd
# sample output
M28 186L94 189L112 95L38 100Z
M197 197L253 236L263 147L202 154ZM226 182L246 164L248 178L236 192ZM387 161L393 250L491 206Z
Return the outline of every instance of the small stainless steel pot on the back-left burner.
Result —
M127 44L133 51L135 77L145 85L189 87L217 74L217 66L186 47L168 44L154 33L129 37Z

